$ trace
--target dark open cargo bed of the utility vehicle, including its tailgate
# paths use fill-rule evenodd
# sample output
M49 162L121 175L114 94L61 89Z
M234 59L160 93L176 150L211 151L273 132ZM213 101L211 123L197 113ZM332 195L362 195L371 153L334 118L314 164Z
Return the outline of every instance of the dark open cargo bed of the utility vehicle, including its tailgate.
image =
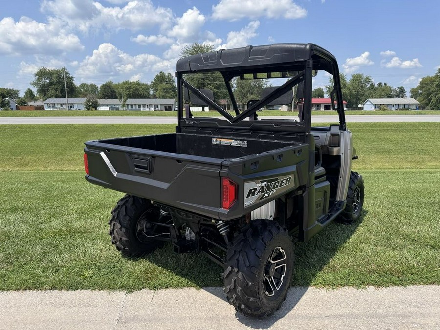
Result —
M182 133L88 141L86 179L175 208L232 219L244 212L245 181L289 175L292 189L301 184L293 164L303 162L303 148L295 142ZM239 202L227 212L220 211L222 176L238 184Z

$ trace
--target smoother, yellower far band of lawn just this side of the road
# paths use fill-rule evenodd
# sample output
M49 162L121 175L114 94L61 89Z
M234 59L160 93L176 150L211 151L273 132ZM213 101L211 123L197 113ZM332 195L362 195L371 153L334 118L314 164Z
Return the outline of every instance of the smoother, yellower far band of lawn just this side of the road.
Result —
M168 124L1 125L0 171L81 170L84 142L174 132ZM434 169L438 123L349 123L355 169Z

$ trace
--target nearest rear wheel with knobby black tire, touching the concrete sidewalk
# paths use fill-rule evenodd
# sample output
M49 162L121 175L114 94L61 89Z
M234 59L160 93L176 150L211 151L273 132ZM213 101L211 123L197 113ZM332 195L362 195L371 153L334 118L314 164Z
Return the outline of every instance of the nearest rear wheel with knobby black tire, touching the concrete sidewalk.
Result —
M229 245L224 269L228 302L246 316L270 316L280 308L290 286L292 240L278 223L253 220Z

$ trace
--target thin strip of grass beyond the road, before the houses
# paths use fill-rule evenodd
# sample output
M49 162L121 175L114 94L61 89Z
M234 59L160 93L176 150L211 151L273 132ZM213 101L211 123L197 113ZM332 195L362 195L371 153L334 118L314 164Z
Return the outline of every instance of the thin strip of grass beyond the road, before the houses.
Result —
M231 112L233 114L233 112ZM218 117L217 111L194 112L196 117ZM407 114L440 114L440 111L346 111L348 115L407 115ZM264 110L259 116L298 116L297 112ZM335 111L313 111L312 115L337 115ZM0 117L80 117L80 116L163 116L177 117L176 111L0 111Z

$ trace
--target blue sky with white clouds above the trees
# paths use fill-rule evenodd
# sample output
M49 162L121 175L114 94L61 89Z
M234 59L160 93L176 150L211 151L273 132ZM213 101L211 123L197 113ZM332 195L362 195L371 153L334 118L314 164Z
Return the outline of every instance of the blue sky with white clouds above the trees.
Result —
M350 78L410 88L440 68L438 0L0 0L0 87L24 93L38 67L77 85L149 83L193 42L318 44ZM320 73L314 88L328 84Z

